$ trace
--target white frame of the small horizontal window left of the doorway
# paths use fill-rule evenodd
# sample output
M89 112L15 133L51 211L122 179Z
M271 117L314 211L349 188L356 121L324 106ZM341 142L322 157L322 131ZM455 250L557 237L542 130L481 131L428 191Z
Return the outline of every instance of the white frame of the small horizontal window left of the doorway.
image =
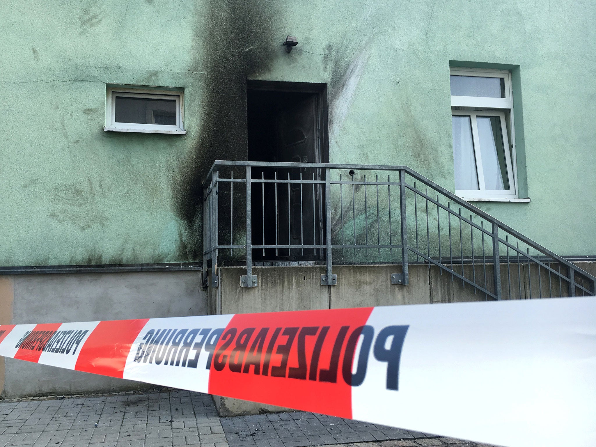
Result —
M147 98L176 101L176 125L119 123L116 121L116 97ZM179 91L136 88L108 88L105 98L105 127L108 132L140 132L143 134L185 135L184 93Z

